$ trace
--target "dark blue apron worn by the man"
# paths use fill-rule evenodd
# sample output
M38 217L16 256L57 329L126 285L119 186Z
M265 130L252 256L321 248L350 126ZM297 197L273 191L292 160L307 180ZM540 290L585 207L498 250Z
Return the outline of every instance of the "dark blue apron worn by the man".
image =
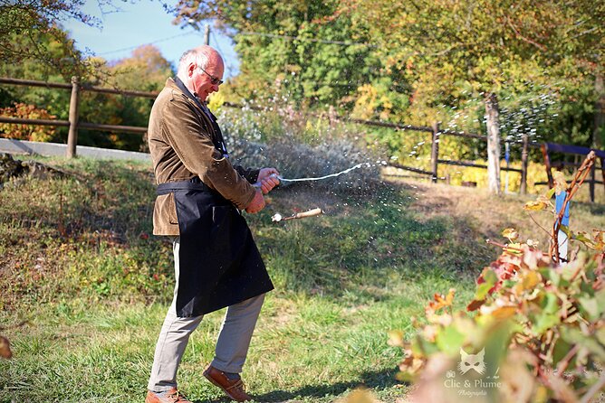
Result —
M210 120L213 143L226 155L220 128ZM198 177L161 183L157 193L173 193L177 208L179 317L208 314L274 289L248 224L231 201Z

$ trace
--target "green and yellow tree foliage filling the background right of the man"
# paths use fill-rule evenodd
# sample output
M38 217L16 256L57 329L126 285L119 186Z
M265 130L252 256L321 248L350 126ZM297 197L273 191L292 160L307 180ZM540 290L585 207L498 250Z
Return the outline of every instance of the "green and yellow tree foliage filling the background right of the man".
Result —
M277 101L299 110L328 104L353 117L418 126L439 121L442 129L481 134L485 96L493 92L503 138L591 146L602 5L348 0L250 7L183 0L176 8L180 23L216 18L234 35L242 73L230 100L254 99L262 107ZM408 136L364 132L410 165L406 155L416 143ZM482 142L447 143L443 152L451 159L485 154ZM413 158L411 166L426 168L423 156Z

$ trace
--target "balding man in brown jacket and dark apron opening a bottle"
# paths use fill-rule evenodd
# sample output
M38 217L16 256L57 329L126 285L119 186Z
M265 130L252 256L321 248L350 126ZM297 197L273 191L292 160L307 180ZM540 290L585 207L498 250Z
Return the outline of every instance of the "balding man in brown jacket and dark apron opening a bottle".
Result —
M174 298L159 333L146 403L187 402L176 378L189 335L204 314L226 306L216 355L204 376L230 398L250 399L239 373L264 293L273 284L240 210L263 210L263 192L279 181L274 168L245 170L229 162L216 117L206 108L223 71L213 48L185 52L177 77L167 80L149 117L158 183L153 233L177 238Z

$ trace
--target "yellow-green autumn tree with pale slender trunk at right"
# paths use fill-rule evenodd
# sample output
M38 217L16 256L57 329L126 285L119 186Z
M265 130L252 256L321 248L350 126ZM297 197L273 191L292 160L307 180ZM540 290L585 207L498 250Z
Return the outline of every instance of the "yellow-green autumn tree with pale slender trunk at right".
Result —
M483 97L493 192L499 192L499 148L491 139L500 126L500 95L516 97L530 83L553 79L574 83L602 61L602 2L346 0L335 14L367 23L382 59L406 71L421 109L460 98L463 88Z

